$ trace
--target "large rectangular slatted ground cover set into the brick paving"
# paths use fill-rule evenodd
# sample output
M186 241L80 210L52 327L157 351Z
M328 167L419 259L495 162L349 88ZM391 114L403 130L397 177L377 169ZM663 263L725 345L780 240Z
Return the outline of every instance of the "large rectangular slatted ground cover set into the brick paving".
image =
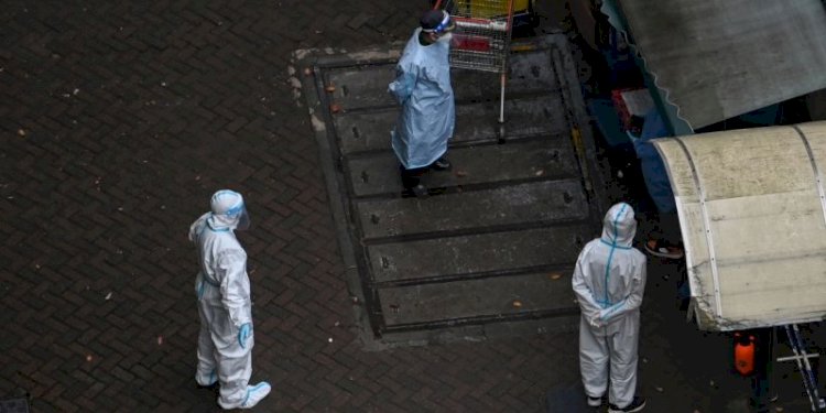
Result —
M594 145L565 37L514 42L503 129L498 76L453 72L454 166L425 176L438 188L427 198L402 196L390 148L399 107L387 87L399 48L296 54L367 336L432 341L570 328L570 273L599 231L594 188L602 186L590 181Z

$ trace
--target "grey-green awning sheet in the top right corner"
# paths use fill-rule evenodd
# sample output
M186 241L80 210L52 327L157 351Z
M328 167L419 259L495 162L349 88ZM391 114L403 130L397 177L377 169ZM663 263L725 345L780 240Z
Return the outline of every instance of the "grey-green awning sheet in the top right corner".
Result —
M649 72L692 128L826 88L822 0L617 3Z

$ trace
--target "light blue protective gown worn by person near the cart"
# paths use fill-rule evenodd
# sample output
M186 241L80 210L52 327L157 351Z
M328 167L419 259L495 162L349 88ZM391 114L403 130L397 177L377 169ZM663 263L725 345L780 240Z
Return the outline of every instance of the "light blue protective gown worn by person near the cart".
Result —
M419 43L419 28L404 46L388 89L402 105L391 132L393 151L405 169L426 167L447 152L456 121L450 66L450 45Z

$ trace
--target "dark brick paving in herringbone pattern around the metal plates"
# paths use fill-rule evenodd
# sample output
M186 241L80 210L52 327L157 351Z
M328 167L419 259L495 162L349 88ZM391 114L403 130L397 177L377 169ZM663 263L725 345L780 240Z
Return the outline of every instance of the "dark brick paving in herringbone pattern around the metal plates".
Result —
M258 411L537 412L548 388L575 382L575 335L378 352L356 339L286 67L298 48L404 40L421 6L4 1L0 399L29 394L34 412L216 411L193 380L186 232L220 187L242 192L253 219L240 235L253 380L274 388ZM667 349L669 325L654 326ZM703 393L674 400L687 406L686 394Z

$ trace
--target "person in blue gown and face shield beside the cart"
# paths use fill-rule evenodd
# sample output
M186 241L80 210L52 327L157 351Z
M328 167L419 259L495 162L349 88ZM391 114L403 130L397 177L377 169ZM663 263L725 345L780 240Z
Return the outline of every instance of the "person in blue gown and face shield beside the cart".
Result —
M445 157L453 137L456 107L450 86L450 39L455 24L443 10L428 10L404 46L388 86L402 105L391 143L399 157L402 185L414 196L426 196L421 176L430 169L450 169Z

